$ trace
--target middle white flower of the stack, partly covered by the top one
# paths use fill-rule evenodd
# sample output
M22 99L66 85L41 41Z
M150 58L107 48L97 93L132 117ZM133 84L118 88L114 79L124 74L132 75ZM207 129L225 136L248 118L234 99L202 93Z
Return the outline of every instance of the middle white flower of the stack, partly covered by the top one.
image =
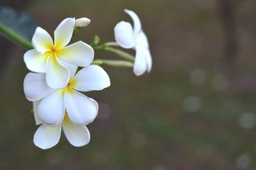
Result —
M63 62L63 61L62 61ZM46 125L60 125L65 111L75 125L87 125L97 116L98 104L78 91L99 91L110 86L110 77L102 67L89 65L75 74L78 67L65 63L70 80L63 89L52 89L46 83L46 74L28 73L24 79L24 92L28 101L40 101L38 119Z

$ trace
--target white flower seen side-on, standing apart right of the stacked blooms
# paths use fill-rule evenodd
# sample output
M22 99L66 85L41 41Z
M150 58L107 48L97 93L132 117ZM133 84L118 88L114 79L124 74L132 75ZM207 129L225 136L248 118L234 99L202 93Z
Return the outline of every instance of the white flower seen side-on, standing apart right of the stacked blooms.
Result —
M130 23L121 21L114 27L114 38L117 43L124 48L133 48L136 51L133 71L137 76L150 72L152 59L149 51L149 42L146 34L142 30L142 23L134 11L125 9L132 18L134 28Z

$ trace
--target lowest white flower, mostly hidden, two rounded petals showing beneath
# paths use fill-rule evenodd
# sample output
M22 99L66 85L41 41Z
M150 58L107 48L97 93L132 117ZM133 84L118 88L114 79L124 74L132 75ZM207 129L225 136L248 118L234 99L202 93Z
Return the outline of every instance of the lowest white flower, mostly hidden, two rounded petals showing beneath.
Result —
M36 122L37 125L41 124L40 120L36 120ZM86 126L73 124L68 115L65 115L63 123L60 123L60 125L48 126L41 124L33 137L34 144L41 149L54 147L60 140L61 128L68 142L75 147L82 147L90 142L90 132Z

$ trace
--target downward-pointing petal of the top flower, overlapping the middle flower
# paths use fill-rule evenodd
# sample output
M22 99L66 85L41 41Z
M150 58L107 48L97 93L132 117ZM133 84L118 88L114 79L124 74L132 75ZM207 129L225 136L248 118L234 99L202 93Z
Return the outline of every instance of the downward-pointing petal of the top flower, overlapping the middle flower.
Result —
M53 89L63 89L70 79L68 68L64 67L56 57L50 57L48 70L46 72L46 82Z

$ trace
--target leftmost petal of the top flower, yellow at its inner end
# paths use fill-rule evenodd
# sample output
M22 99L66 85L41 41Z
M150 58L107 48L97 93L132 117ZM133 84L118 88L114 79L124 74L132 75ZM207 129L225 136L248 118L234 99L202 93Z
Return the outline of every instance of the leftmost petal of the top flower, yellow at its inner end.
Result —
M46 54L42 55L37 50L29 50L24 54L24 62L26 67L32 72L46 72L46 65L47 65L47 52Z

